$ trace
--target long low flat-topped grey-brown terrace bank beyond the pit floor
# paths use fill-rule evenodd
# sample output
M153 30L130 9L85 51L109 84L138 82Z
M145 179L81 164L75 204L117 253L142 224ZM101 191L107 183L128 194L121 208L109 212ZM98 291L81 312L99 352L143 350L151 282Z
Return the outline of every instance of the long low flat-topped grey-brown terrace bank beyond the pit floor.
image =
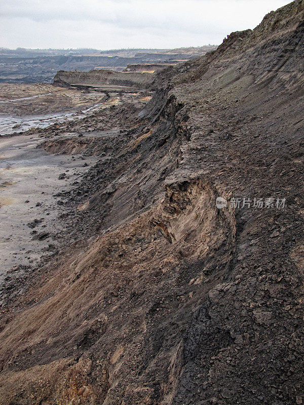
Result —
M154 81L151 73L113 72L91 70L89 72L59 70L54 78L55 86L88 87L108 91L135 91L147 89Z

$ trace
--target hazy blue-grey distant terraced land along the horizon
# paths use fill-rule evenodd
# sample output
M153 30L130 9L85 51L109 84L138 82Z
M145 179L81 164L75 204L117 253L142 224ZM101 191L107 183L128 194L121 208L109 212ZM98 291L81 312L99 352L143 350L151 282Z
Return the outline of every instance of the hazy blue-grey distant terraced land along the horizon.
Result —
M216 46L161 50L24 49L0 48L0 83L52 83L59 70L124 70L133 64L176 64L213 51Z

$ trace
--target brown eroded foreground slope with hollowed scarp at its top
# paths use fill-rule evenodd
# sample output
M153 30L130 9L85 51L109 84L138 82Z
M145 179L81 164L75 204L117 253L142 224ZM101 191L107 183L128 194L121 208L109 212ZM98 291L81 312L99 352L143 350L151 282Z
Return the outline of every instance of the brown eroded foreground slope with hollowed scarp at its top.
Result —
M122 398L142 403L145 398L153 397L158 398L156 403L173 403L179 376L189 355L189 339L184 341L183 331L189 322L191 305L197 299L187 302L176 297L195 294L195 297L206 298L204 283L213 271L211 257L217 252L218 264L225 263L231 252L230 242L225 242L227 231L231 241L234 238L233 213L218 216L216 195L215 190L201 180L167 185L165 197L158 206L116 232L100 237L85 255L68 259L59 268L55 285L59 282L63 287L42 307L30 310L28 327L31 325L33 332L29 342L18 333L14 336L14 340L21 342L23 354L15 352L19 361L23 361L27 344L30 344L30 349L36 350L46 362L44 366L18 374L23 381L23 391L27 392L27 384L30 384L30 392L35 393L32 403L39 403L43 398L51 404L56 398L60 403L79 400L83 404L118 405ZM174 235L173 242L167 239L166 230ZM142 242L144 250L140 248ZM134 249L138 251L137 258ZM127 267L122 252L130 263ZM155 257L156 252L159 258ZM110 281L113 274L115 285ZM140 287L142 277L145 278L144 289ZM53 282L48 283L46 291L54 288ZM184 291L185 285L190 287ZM75 302L80 298L79 291L86 297L85 312ZM127 291L132 294L126 300ZM166 304L161 302L163 297L168 299ZM61 305L59 320L53 316L41 319L42 313L53 313L54 306ZM142 311L140 308L144 307ZM97 320L94 313L101 308L102 316ZM66 311L68 319L64 315ZM125 318L123 328L121 313ZM32 319L38 324L43 322L49 333L58 321L64 336L60 333L53 336L54 345L43 343L44 333L41 329L35 330L37 326ZM180 330L176 331L174 325L179 325ZM128 336L127 342L124 335ZM35 341L40 344L36 345ZM69 345L76 345L75 354L78 348L85 354L78 360L47 361L58 357L60 346L70 350ZM140 358L142 364L135 369L134 356ZM141 370L139 381L138 368ZM7 378L13 379L14 389L17 380L14 381L13 369L8 365L5 370L11 373ZM158 376L156 381L150 381L150 373ZM18 390L15 386L16 394Z

